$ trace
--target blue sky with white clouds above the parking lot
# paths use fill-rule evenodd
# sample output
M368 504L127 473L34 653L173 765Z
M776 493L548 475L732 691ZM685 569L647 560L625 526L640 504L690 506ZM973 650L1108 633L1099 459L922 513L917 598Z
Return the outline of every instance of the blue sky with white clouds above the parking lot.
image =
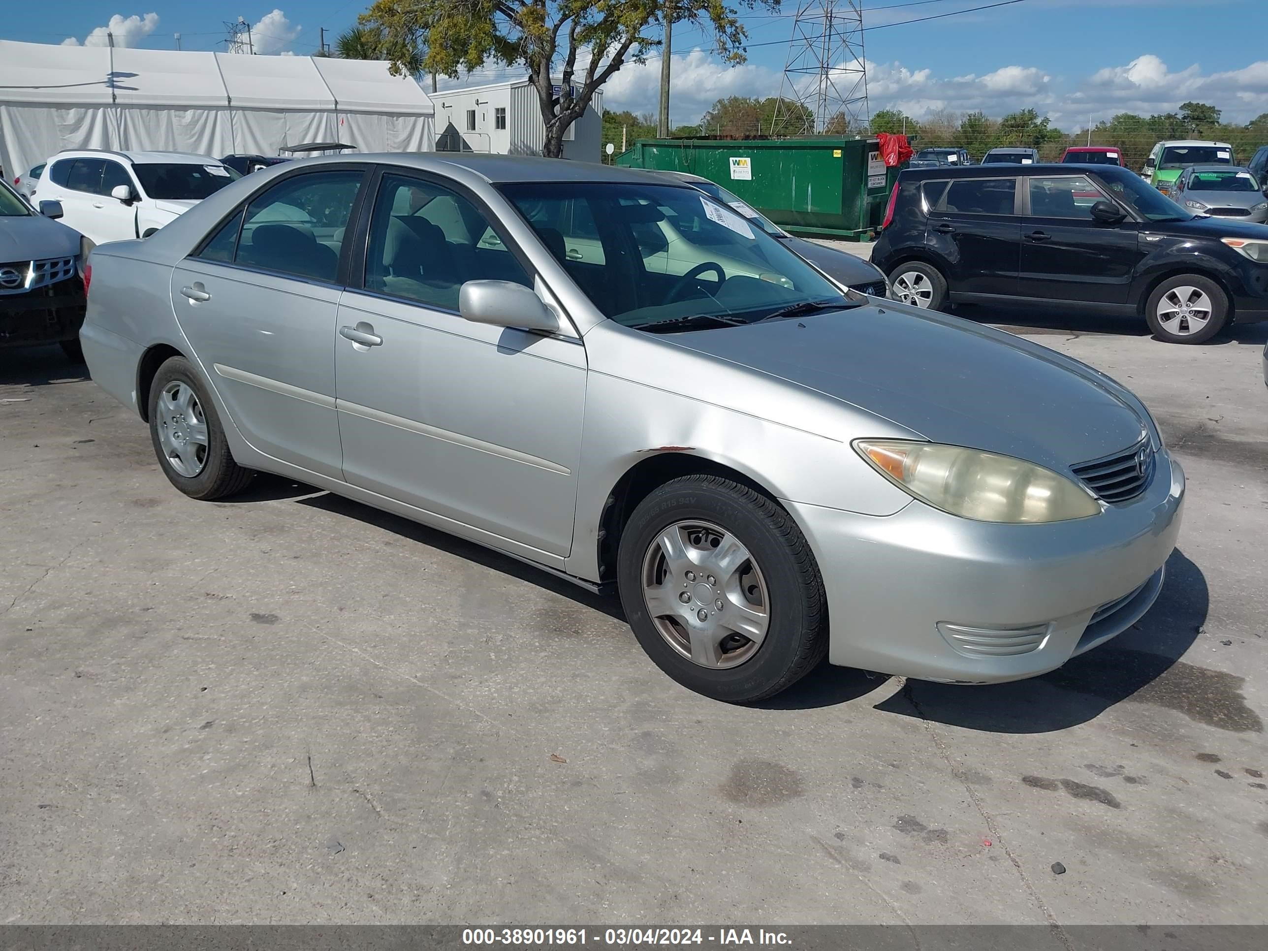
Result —
M951 13L995 0L933 0L883 10L904 0L866 3L865 24ZM365 0L213 6L190 3L58 0L56 16L0 20L0 38L84 42L112 16L122 42L185 49L223 49L223 20L255 27L259 52L311 53L355 22ZM791 33L789 0L781 16L758 9L746 18L754 46L749 62L728 68L709 55L709 38L680 25L675 34L675 122L692 122L724 95L775 95ZM56 29L52 27L56 24ZM63 30L63 32L58 32ZM1035 107L1075 128L1113 112L1159 112L1186 99L1210 101L1229 118L1268 112L1268 0L1023 0L927 23L869 29L865 36L871 108L899 107L989 114ZM1219 52L1212 52L1213 49ZM498 76L503 74L496 74ZM654 108L659 62L623 70L606 90L607 108Z

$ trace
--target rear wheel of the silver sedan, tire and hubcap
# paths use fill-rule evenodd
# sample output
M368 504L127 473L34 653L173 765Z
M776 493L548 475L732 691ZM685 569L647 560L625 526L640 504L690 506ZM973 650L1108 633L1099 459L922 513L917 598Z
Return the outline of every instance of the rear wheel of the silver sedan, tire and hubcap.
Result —
M190 498L231 496L255 476L233 462L216 406L184 356L166 360L150 384L150 439L169 482Z

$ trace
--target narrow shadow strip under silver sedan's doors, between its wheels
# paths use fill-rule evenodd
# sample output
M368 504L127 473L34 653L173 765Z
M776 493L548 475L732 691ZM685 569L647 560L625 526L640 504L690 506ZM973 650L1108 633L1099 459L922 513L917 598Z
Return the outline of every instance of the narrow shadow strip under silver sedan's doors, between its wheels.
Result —
M601 611L609 618L614 618L623 623L625 621L625 612L621 610L620 598L615 595L596 595L579 585L573 585L563 578L557 578L549 572L534 568L530 564L519 562L515 558L501 554L500 552L495 552L489 548L484 548L483 545L477 545L474 541L467 541L456 535L450 535L437 529L430 529L426 525L420 525L416 521L410 521L408 519L403 519L398 515L392 515L392 512L384 512L380 508L354 502L349 498L344 498L342 496L336 496L332 492L304 496L302 498L295 498L295 502L298 505L307 505L313 508L321 508L322 511L342 515L349 519L356 519L358 521L373 525L377 529L383 529L384 531L391 531L394 535L408 539L410 541L435 548L468 562L476 562L477 564L482 564L486 568L501 572L502 574L510 574L512 578L535 585L539 588L568 597L579 605Z

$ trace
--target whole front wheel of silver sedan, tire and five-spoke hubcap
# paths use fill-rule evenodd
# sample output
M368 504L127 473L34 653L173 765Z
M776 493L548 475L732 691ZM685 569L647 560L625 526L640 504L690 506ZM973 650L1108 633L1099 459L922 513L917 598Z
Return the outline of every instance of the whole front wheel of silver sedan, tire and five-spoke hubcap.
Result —
M796 522L716 476L644 498L621 534L621 605L656 664L705 696L773 696L824 657L823 579Z

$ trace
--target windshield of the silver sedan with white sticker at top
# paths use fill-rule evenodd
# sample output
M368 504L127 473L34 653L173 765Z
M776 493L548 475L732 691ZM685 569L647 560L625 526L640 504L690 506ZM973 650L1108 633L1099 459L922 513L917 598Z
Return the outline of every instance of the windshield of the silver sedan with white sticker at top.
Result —
M781 242L691 188L520 183L502 193L595 306L626 327L727 326L790 307L856 306Z

